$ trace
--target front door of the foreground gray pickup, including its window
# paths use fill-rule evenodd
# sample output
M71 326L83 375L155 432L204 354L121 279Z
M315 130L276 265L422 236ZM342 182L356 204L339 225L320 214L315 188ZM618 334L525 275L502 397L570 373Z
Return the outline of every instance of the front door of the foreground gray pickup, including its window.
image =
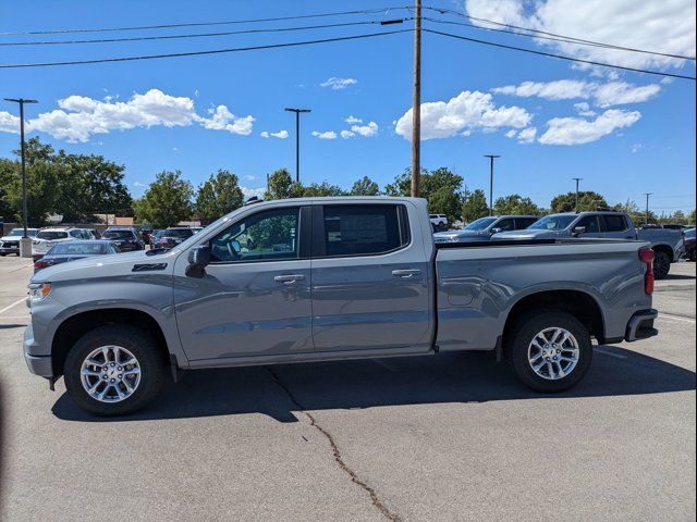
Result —
M207 241L203 278L187 277L180 256L174 306L189 359L313 351L309 215L297 206L244 215Z

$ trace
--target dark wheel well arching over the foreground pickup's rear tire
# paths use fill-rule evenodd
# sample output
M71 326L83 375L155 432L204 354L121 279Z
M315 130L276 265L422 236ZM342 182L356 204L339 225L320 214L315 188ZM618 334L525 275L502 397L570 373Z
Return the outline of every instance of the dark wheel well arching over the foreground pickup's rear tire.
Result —
M562 310L571 313L588 328L590 335L600 343L604 341L602 313L591 296L578 290L550 290L524 297L513 306L503 330L504 346L518 318L533 309Z

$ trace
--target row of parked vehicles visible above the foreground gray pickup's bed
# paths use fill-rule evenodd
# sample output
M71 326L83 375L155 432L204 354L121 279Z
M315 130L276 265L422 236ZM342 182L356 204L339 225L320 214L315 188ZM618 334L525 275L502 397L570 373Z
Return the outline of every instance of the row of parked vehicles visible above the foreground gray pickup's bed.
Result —
M530 215L488 216L469 223L461 231L449 231L433 235L436 243L559 238L643 239L649 241L656 256L653 274L657 279L668 276L671 263L677 262L681 257L685 256L687 249L684 232L680 226L662 225L637 229L629 214L611 211L565 212L543 217Z

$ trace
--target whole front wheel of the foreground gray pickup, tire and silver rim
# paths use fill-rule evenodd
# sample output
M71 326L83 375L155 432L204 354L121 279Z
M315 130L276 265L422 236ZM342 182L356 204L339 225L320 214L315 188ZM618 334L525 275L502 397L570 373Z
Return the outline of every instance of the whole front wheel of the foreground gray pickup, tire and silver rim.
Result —
M132 413L155 398L164 368L158 346L140 328L110 324L85 334L65 359L70 397L100 417Z

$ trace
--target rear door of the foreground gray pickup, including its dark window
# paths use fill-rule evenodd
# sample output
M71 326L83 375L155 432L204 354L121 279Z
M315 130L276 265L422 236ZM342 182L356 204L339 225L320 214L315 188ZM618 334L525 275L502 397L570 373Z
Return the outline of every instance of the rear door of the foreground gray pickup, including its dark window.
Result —
M430 349L430 263L421 231L409 231L419 219L407 203L313 207L317 351Z

